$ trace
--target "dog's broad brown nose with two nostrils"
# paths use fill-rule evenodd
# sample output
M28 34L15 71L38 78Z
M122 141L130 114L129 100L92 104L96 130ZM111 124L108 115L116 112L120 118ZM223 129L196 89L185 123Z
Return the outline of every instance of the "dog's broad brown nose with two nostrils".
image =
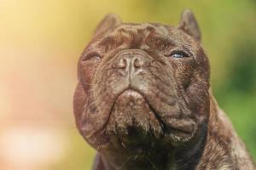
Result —
M128 50L120 53L113 61L113 68L125 71L133 71L138 68L147 66L148 57L143 51Z

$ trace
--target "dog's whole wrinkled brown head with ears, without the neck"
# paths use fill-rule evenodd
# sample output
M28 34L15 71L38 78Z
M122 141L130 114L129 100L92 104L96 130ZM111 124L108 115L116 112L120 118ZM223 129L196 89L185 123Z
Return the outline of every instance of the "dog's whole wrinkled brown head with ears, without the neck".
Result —
M209 65L193 14L177 27L108 16L78 72L76 122L96 150L179 147L207 124Z

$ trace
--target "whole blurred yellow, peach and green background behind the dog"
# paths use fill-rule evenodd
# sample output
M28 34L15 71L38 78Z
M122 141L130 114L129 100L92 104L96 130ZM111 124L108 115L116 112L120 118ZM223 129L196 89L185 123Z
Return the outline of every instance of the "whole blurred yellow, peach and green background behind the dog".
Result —
M108 13L177 26L191 8L212 89L256 160L255 0L0 0L0 168L90 169L73 121L76 64Z

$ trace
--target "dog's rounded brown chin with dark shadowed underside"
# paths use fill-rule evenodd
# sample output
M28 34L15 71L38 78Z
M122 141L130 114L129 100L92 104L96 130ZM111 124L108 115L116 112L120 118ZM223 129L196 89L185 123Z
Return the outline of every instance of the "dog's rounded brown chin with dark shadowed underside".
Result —
M110 143L130 154L144 155L163 137L160 119L137 91L128 89L119 94L111 111L107 133Z

